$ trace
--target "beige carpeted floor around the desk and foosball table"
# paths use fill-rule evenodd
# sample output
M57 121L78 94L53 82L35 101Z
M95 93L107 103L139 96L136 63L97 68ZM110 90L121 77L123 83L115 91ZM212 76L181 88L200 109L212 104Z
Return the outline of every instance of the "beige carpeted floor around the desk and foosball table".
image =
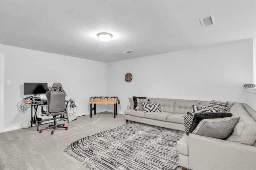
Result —
M113 113L104 112L92 118L77 117L66 123L68 130L58 128L53 135L50 129L39 133L36 127L0 133L0 170L86 170L86 166L64 152L68 144L124 124L124 115L114 118Z

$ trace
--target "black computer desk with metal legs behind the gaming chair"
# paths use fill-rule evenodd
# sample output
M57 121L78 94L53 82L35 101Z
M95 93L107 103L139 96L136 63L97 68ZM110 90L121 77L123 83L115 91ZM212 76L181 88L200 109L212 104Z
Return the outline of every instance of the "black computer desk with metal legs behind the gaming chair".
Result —
M70 102L70 100L65 100L66 108L67 108L69 102ZM39 131L39 126L40 126L40 125L44 125L44 124L40 124L41 122L54 120L54 118L44 119L44 120L41 120L41 121L38 121L38 120L37 120L38 117L37 117L37 115L36 115L36 112L37 112L38 106L41 106L41 109L43 109L44 105L46 105L46 104L44 104L44 103L42 103L42 102L26 103L26 104L31 106L31 121L30 121L31 127L33 127L33 124L35 124L37 131ZM34 109L33 109L33 108L34 108ZM34 115L35 115L34 117L33 117L33 110L34 110L34 113L35 113L35 114L34 114ZM41 111L42 111L42 110L41 110ZM65 114L66 114L66 109L65 109ZM65 114L64 114L64 115L65 115ZM64 115L60 115L59 117L57 117L57 119L60 119L60 120L62 120L62 119L67 119L67 120L68 120L68 123L69 123L68 114L66 114L67 118L64 117ZM34 123L34 119L36 119L36 123Z

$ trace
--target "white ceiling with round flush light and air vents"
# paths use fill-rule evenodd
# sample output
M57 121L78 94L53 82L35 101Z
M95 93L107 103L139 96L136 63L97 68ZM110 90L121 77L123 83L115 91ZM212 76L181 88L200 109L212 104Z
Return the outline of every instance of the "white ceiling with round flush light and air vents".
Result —
M215 24L202 27L199 18L212 14ZM256 0L0 0L1 44L94 61L248 38L256 38Z

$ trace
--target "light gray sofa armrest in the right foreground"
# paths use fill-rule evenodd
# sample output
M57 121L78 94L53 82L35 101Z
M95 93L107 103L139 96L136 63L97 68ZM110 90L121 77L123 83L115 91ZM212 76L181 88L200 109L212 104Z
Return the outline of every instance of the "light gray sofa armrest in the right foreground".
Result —
M256 147L189 134L188 168L192 170L252 170Z

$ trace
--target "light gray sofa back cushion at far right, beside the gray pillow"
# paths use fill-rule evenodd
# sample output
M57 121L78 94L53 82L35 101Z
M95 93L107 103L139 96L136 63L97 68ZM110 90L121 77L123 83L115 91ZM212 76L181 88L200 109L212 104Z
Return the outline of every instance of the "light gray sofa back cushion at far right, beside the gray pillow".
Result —
M233 116L239 115L240 119L234 128L233 134L227 140L254 145L256 141L256 122L254 119L250 117L241 103L234 103L229 113L232 113Z

